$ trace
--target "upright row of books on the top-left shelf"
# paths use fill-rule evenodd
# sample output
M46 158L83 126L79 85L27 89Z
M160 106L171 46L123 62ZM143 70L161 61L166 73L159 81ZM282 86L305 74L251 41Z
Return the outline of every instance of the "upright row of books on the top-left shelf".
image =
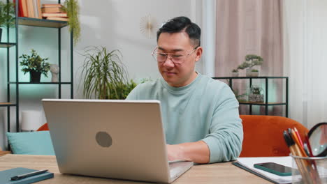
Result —
M16 1L19 1L18 2L19 17L31 17L31 18L38 18L38 19L42 18L41 0L16 0Z

